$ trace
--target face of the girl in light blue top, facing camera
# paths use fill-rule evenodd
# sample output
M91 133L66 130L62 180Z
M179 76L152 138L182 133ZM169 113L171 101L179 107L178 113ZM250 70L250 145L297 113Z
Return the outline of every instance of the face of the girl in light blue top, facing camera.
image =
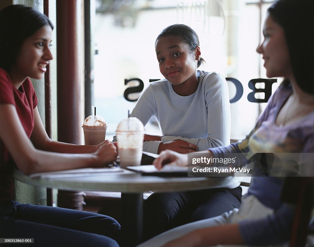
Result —
M155 46L160 73L171 82L173 89L197 85L199 47L191 51L188 44L177 36L162 36ZM193 93L193 92L192 92Z

